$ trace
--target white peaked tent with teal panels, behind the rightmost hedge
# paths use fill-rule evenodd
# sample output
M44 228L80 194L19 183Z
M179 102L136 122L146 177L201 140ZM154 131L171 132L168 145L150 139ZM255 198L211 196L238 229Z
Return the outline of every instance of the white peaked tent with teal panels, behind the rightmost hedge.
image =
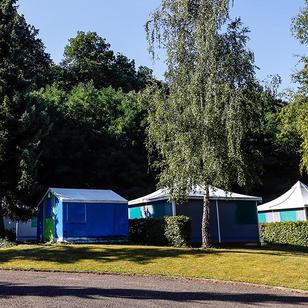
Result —
M308 186L298 181L277 199L258 205L258 212L272 213L272 218L268 216L267 222L284 221L281 219L281 213L286 211L296 212L296 220L307 220L307 208Z

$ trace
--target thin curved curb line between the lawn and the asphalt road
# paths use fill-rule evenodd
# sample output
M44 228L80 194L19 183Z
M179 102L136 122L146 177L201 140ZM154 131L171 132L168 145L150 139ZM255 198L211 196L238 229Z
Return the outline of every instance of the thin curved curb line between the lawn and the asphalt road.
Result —
M95 272L95 271L72 271L70 269L38 269L38 268L14 268L14 267L0 267L1 271L24 271L24 272L49 272L49 273L68 273L68 274L92 274L92 275L110 275L110 276L129 276L129 277L143 277L143 278L160 278L160 279L178 279L187 281L200 281L209 283L220 283L220 284L232 284L241 286L251 286L257 288L266 288L282 292L294 292L304 295L308 295L308 290L301 290L296 288L276 286L269 284L260 284L243 281L230 281L210 278L197 278L197 277L182 277L182 276L170 276L170 275L155 275L155 274L134 274L134 273L118 273L118 272Z

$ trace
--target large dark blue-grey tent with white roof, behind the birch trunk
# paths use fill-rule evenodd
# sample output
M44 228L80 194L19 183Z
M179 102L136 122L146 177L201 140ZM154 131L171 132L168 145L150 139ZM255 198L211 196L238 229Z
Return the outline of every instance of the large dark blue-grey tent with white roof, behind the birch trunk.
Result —
M210 235L218 245L259 245L257 202L262 198L210 187ZM203 191L191 191L184 203L168 202L168 192L157 190L128 202L129 218L185 215L191 219L191 243L202 242Z

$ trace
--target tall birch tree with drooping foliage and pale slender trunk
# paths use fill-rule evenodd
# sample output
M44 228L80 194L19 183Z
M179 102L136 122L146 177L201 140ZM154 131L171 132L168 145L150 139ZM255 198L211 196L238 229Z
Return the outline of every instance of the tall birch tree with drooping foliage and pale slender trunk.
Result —
M159 187L169 199L204 190L202 247L209 247L209 187L257 180L262 88L247 28L229 19L228 0L162 0L145 24L149 53L166 51L165 87L143 91L147 147L158 155Z

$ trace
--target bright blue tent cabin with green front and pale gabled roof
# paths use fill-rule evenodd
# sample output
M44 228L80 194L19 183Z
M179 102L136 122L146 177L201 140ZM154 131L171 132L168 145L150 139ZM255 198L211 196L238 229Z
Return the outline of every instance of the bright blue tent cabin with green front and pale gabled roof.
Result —
M112 190L49 188L38 204L37 240L125 240L127 212L127 200Z

